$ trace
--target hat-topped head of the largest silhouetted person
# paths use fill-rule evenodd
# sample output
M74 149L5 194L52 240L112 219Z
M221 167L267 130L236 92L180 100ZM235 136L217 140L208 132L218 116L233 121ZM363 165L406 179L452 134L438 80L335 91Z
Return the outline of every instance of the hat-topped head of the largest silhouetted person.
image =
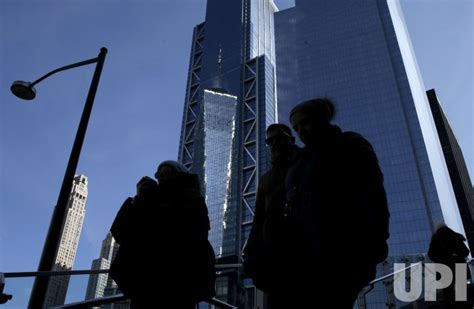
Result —
M304 101L290 112L290 123L306 146L317 144L330 127L334 117L334 103L327 98Z

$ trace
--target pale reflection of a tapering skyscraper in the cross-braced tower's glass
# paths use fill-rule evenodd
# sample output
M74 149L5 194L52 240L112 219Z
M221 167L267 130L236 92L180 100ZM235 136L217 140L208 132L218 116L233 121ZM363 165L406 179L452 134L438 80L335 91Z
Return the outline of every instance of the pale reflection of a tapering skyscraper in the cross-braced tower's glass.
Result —
M209 240L217 256L232 254L235 239L235 211L230 209L229 195L232 176L232 147L235 143L237 97L217 90L204 90L202 141L204 151L203 181L211 230ZM219 167L219 168L216 168ZM229 228L229 229L228 229ZM230 235L228 235L230 231ZM217 249L217 250L216 250Z

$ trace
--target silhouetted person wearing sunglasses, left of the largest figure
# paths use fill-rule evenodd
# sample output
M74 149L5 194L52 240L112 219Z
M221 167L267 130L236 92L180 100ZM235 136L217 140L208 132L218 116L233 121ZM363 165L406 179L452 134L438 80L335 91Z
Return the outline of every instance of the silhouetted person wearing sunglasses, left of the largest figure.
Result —
M284 218L285 177L299 148L291 129L284 124L267 128L266 143L272 167L260 178L252 230L244 249L244 272L271 298L289 284L283 272L285 257L293 254L288 248Z

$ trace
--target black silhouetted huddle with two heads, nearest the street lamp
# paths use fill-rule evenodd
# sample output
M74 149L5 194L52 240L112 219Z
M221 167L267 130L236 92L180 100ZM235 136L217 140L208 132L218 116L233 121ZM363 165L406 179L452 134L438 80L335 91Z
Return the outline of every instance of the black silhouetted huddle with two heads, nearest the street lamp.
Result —
M215 295L215 257L198 177L175 161L137 184L111 232L120 244L111 277L132 308L195 308Z

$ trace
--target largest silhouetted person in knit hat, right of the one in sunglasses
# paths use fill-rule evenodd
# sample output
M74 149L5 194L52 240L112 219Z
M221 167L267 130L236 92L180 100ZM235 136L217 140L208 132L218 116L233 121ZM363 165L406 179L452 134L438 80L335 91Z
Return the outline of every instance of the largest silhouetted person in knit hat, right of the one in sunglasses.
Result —
M298 256L289 308L352 308L388 254L383 174L371 144L330 123L326 98L295 106L290 122L305 147L286 179ZM285 297L285 296L283 296ZM284 307L281 307L284 308Z

